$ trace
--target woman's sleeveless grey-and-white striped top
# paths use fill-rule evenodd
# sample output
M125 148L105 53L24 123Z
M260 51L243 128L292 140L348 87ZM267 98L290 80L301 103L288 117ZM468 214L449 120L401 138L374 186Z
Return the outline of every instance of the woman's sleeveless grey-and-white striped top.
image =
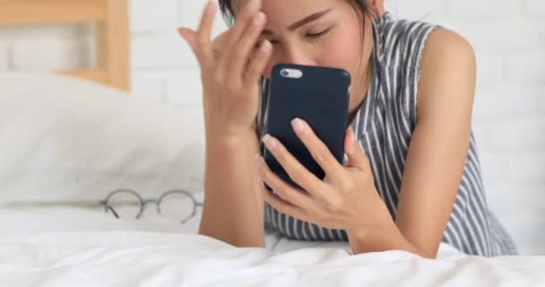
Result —
M371 86L350 124L368 155L376 189L394 220L405 159L416 126L420 58L429 33L437 28L440 27L425 22L394 21L390 13L373 22ZM267 87L265 81L257 125L260 135L266 117ZM264 148L263 143L261 147ZM290 239L348 240L345 230L299 221L269 204L265 204L264 215L265 226ZM516 254L512 239L489 212L472 134L463 178L442 240L469 255Z

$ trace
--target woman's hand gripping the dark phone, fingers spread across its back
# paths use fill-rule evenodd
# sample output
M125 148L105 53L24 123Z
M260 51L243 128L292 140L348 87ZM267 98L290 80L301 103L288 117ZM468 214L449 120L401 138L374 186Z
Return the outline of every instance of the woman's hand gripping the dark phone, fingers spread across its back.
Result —
M384 228L385 221L393 223L384 202L376 192L368 158L351 129L347 130L344 143L348 161L342 166L305 121L295 119L292 126L298 138L325 171L325 178L316 178L278 139L265 135L267 149L290 178L304 189L288 185L259 157L257 166L261 180L274 191L274 194L264 192L266 202L279 212L299 220L329 229L347 230L349 238L350 235L360 236L369 229Z

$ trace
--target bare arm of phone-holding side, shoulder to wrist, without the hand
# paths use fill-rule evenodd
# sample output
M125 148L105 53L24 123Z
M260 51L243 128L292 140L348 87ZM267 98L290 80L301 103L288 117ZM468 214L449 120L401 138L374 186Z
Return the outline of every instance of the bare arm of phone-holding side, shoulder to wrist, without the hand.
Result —
M417 126L402 178L395 227L365 234L366 251L404 249L437 257L454 206L471 135L475 56L450 30L434 30L422 57ZM391 221L391 220L390 220Z

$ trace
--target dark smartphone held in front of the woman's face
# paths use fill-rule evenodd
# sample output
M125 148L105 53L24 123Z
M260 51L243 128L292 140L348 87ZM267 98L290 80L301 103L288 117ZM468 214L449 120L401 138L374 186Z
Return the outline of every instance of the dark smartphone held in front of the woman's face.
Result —
M278 138L307 170L324 179L324 170L298 139L291 120L307 121L337 161L344 158L344 136L348 121L350 74L342 69L278 64L272 67L269 97L264 110L264 135ZM264 145L263 145L264 146ZM266 147L264 160L271 170L294 187L281 164ZM265 187L271 190L270 187ZM300 187L299 187L300 188Z

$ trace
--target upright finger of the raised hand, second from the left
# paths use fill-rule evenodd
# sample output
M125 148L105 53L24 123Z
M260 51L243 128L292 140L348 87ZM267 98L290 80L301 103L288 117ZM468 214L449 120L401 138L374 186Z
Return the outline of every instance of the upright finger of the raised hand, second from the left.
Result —
M203 65L203 61L210 61L213 59L212 50L212 25L214 17L216 15L216 4L212 1L208 2L204 8L203 17L199 24L199 29L195 36L195 47L198 51L199 61Z

